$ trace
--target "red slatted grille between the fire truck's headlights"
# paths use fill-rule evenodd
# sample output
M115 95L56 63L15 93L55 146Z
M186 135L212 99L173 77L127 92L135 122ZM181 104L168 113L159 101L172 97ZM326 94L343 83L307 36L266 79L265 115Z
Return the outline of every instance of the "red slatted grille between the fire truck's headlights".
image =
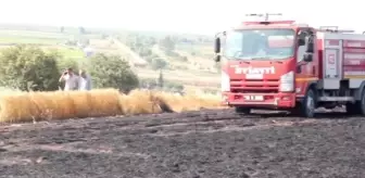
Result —
M230 79L231 92L276 93L279 91L279 79Z

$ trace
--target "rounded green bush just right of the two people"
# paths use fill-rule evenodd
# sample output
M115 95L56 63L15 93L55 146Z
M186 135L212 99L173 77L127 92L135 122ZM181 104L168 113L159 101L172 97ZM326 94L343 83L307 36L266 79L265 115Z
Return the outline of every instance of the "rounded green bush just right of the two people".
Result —
M117 88L128 92L138 87L137 75L119 55L97 53L86 66L97 88Z

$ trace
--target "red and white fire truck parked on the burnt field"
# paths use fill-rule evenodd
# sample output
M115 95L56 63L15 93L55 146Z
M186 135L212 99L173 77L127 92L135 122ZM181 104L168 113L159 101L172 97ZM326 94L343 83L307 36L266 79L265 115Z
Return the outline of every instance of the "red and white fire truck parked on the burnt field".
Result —
M224 104L240 114L261 109L315 117L318 107L345 106L365 115L365 35L268 15L215 37Z

